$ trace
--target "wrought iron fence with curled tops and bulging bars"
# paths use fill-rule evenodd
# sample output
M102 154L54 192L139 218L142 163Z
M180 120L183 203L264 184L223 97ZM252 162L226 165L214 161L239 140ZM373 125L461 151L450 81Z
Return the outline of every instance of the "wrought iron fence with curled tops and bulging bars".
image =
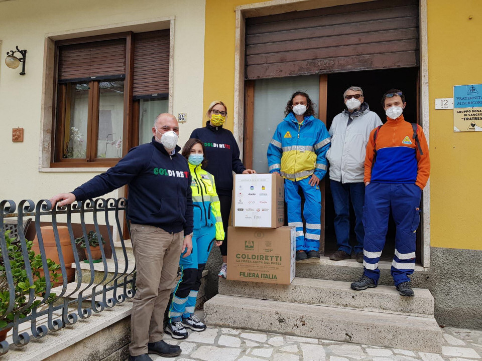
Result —
M121 216L122 213L126 214L127 200L125 198L88 200L56 207L53 210L51 210L51 206L48 200L41 200L37 204L31 200L24 200L19 203L18 207L11 200L0 202L0 333L12 328L13 343L19 347L29 343L32 336L42 338L49 332L58 332L66 325L77 322L79 317L86 319L92 315L92 312L98 313L106 308L112 308L116 304L133 298L135 294L134 261L130 261L127 254L123 235L124 217ZM86 283L82 283L80 265L82 257L77 250L72 228L72 215L75 214L80 215L81 237L83 237L89 265L90 279ZM113 271L108 270L105 248L102 242L99 242L103 264L103 274L100 276L99 267L97 270L94 268L96 263L92 259L85 223L86 215L92 218L95 228L94 236L97 237L97 240L103 236L112 250L109 262L113 262ZM58 216L66 218L75 260L76 281L74 284L70 283L69 286L64 251L59 239ZM10 232L4 232L4 220L15 217L19 230L23 229L24 219L35 217L38 243L36 247L40 252L32 250L32 240L26 240L23 232L18 232L16 239L10 238ZM41 232L41 217L44 222L47 218L51 223L58 252L58 264L46 257ZM118 240L122 244L122 255L117 254L115 250L113 232L110 229L112 219L115 220L112 229L116 229ZM106 235L100 233L99 220L103 220L101 223L106 226ZM118 261L119 256L124 258L123 262ZM62 276L62 284L54 288L53 283L59 276ZM88 277L84 277L84 280L86 278ZM53 289L60 290L60 292L54 293ZM19 332L19 326L25 322L31 322L30 331ZM8 340L1 341L0 355L8 352L9 347Z

